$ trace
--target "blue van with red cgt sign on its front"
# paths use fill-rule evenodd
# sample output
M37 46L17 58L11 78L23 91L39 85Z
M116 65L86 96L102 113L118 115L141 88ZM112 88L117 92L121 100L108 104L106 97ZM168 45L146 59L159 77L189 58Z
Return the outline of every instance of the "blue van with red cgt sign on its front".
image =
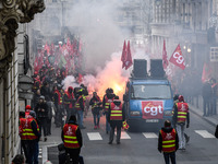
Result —
M172 117L173 94L165 77L130 78L123 95L130 129L141 126L162 126Z

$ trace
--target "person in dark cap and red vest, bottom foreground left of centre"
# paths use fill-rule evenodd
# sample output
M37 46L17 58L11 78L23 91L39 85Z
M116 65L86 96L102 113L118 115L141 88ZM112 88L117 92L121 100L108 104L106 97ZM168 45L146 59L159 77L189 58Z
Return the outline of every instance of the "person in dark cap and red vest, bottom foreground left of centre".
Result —
M73 164L78 164L81 148L83 147L83 138L75 115L72 115L64 125L61 133L64 143L65 153L70 154Z

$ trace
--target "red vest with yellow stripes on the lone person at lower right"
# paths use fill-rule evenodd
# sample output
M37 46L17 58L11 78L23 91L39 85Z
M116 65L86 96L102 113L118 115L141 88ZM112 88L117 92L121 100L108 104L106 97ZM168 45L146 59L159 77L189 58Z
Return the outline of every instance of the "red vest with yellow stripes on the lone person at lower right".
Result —
M174 152L175 151L175 130L172 129L171 132L165 132L160 130L162 137L162 151L164 152Z

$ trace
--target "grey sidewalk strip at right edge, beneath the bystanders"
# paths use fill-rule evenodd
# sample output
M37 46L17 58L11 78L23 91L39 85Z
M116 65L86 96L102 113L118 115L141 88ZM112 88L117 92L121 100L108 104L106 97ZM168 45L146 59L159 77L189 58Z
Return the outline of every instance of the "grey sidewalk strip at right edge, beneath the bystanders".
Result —
M218 115L208 116L208 117L203 116L204 113L203 113L203 99L202 99L202 97L199 97L199 99L198 99L198 107L196 107L197 106L196 98L193 99L193 103L189 103L189 106L190 106L191 112L193 112L197 116L205 119L208 124L210 124L213 126L218 125ZM217 107L218 107L218 105L217 105Z

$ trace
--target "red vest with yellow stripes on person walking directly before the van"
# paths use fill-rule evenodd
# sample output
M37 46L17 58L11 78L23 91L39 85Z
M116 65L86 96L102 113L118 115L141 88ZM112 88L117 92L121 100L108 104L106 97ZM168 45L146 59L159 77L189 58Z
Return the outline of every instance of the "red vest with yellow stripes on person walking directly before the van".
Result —
M111 103L110 107L110 120L122 120L122 103L120 103L120 106Z

